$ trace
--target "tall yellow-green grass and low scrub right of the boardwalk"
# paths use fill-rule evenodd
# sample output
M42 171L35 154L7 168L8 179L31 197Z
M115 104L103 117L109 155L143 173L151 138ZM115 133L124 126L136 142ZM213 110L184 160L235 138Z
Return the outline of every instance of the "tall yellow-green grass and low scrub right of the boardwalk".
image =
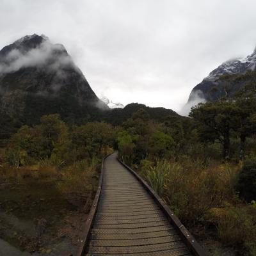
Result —
M220 241L237 255L256 255L256 207L235 187L241 164L182 159L141 161L140 174L199 239ZM240 253L240 254L239 254Z

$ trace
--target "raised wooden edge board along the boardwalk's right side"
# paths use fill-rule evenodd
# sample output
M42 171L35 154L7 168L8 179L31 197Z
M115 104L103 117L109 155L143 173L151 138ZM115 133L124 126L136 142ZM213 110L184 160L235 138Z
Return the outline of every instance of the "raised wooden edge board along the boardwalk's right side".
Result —
M187 228L185 228L184 225L182 225L179 218L175 216L175 214L170 210L168 205L164 203L164 201L160 198L160 196L157 195L157 193L147 184L147 182L145 182L145 180L143 180L138 175L138 173L134 172L134 170L132 170L129 166L127 166L127 164L123 163L120 159L118 159L118 161L127 170L129 170L129 172L131 172L136 177L136 179L143 185L143 187L148 191L148 193L150 193L150 195L155 200L156 204L159 205L159 207L162 209L162 211L164 212L164 214L166 215L170 223L172 223L180 232L180 235L184 243L186 243L186 245L188 246L189 250L192 253L194 253L194 255L196 256L209 256L209 254L205 252L202 246L200 246L200 244L196 242L195 238L189 233Z

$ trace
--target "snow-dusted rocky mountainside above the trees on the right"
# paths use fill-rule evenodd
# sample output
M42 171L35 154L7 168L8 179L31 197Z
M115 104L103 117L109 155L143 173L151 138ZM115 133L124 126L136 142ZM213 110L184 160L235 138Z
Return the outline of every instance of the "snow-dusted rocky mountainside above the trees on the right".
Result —
M229 60L214 69L209 76L197 84L189 95L189 102L214 101L223 96L231 97L243 84L227 88L225 81L218 80L223 75L243 74L247 70L256 71L256 49L246 58Z

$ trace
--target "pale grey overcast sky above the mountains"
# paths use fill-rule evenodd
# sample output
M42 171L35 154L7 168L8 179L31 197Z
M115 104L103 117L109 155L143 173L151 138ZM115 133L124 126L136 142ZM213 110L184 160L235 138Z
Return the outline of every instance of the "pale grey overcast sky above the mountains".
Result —
M44 34L99 97L179 112L212 69L253 52L255 13L255 0L0 0L0 48Z

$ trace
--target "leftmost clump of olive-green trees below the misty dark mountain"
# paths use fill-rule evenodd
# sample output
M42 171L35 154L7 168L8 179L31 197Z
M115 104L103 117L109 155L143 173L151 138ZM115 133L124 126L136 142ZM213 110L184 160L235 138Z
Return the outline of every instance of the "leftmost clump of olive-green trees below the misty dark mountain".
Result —
M73 161L68 127L59 115L42 116L41 124L35 127L22 126L13 134L7 152L18 167L46 158L55 163Z

